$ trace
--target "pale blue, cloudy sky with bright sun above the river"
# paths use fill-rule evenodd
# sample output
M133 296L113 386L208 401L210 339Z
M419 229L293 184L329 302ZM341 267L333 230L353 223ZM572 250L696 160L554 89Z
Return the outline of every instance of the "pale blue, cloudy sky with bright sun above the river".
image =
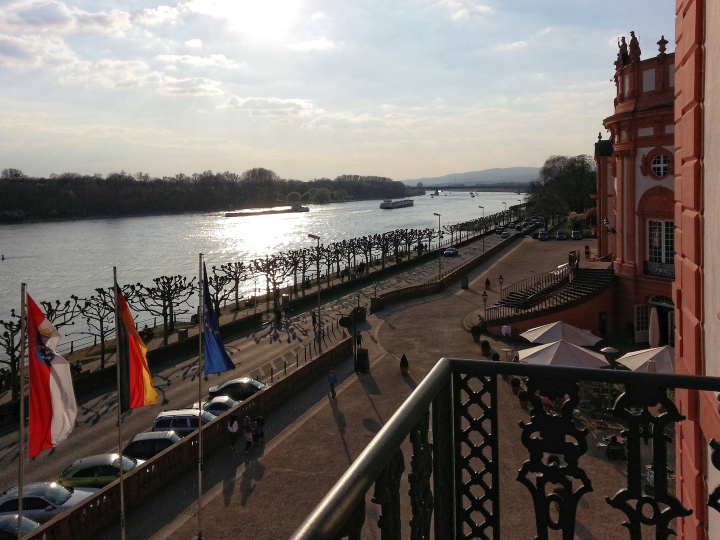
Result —
M672 0L0 0L0 168L396 180L591 154Z

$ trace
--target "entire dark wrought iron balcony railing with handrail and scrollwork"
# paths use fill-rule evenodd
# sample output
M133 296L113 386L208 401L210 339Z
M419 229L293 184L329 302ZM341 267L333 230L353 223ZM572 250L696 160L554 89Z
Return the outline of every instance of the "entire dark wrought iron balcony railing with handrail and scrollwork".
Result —
M529 490L532 505L511 500L507 493L504 505L500 505L500 477L507 477L508 467L500 467L498 398L503 395L498 392L498 374L527 377L528 421L521 421L519 428L505 423L500 427L503 439L517 431L527 451L516 480ZM622 480L620 490L608 492L606 497L608 511L620 510L618 522L622 514L626 521L622 526L617 523L614 531L612 523L603 521L602 537L620 539L629 534L631 540L640 540L645 529L647 538L667 539L674 534L673 520L693 513L675 498L672 471L667 469L667 433L685 419L675 407L671 390L718 392L720 378L443 358L295 531L292 540L360 539L366 493L373 485L372 503L380 507L377 525L382 539L400 538L401 514L405 512L407 517L411 514L410 534L403 536L413 540L430 539L431 527L436 540L499 540L501 512L505 523L508 516L527 511L524 523L536 529L537 539L572 540L578 505L582 505L584 495L593 492L593 482L582 468L588 463L588 429L582 426L578 410L582 389L590 382L596 388L612 387L621 392L607 412L626 427L622 436L626 438L627 461L618 462L626 464L626 480ZM541 397L554 400L556 409L546 410ZM651 412L651 408L655 410ZM413 452L407 478L409 505L400 498L405 470L400 447L408 436ZM652 454L643 441L646 446L652 444ZM720 449L719 444L714 444L716 447ZM555 458L546 459L549 454ZM718 458L720 464L718 454L713 461ZM652 490L647 489L651 469L642 459L652 459ZM618 477L625 478L621 474ZM598 478L598 485L604 480ZM720 488L710 502L711 508L720 511L717 499ZM703 515L706 510L701 510ZM603 509L594 507L592 511ZM508 533L505 537L517 536L518 531L508 529L503 529Z

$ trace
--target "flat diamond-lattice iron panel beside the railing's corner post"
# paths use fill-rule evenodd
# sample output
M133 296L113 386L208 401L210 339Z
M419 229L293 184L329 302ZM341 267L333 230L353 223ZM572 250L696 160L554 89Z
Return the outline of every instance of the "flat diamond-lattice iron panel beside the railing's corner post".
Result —
M477 382L482 387L477 387ZM495 375L454 374L457 538L500 538L500 470L498 468L498 382ZM463 397L465 396L465 397ZM472 410L480 415L475 418ZM467 420L467 427L462 426ZM477 442L477 434L482 441ZM488 452L487 449L490 449ZM488 456L487 454L490 454ZM473 461L482 464L475 470ZM462 474L467 472L467 481ZM480 490L477 490L477 488ZM475 493L473 492L475 491ZM476 495L482 491L482 495ZM488 508L487 503L490 503ZM475 516L473 516L475 514ZM476 521L478 516L483 521ZM468 534L463 529L468 528ZM490 529L490 531L487 531ZM488 534L490 532L490 534Z

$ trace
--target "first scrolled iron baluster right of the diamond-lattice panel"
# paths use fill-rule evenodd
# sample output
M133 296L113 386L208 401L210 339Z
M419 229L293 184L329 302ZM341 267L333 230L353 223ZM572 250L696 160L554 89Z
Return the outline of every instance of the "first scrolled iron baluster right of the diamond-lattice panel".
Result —
M588 475L577 466L580 456L588 450L585 440L588 430L578 429L572 419L572 412L580 401L577 384L533 377L528 379L527 386L532 410L530 421L521 422L520 427L523 430L521 441L528 449L530 459L518 471L517 480L528 488L533 498L537 539L547 540L548 529L552 529L562 531L563 540L572 540L577 503L582 495L593 491ZM546 413L537 391L551 400L569 397L562 403L559 415ZM546 453L562 456L565 464L543 462ZM572 489L574 480L580 481L580 487L575 491ZM556 487L547 492L552 485ZM553 503L557 505L557 521L551 516Z

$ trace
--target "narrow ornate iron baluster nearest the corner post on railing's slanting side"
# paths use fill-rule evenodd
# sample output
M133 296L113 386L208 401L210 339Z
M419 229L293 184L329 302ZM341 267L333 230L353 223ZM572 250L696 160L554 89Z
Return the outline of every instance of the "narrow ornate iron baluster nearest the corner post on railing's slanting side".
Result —
M430 477L433 472L433 445L428 442L430 411L428 410L410 431L413 457L410 458L410 540L430 540L430 523L433 516L433 492Z

